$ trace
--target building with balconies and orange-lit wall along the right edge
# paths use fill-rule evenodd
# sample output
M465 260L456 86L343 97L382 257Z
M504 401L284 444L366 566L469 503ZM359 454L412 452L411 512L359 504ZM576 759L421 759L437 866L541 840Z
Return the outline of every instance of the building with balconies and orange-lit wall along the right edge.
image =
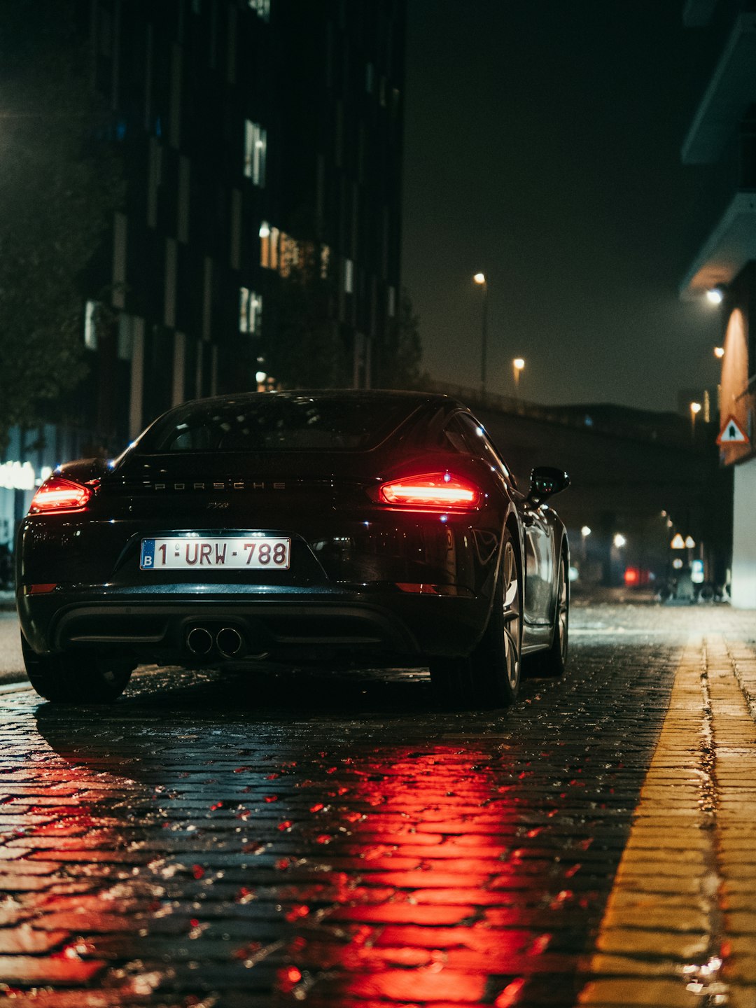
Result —
M683 19L706 32L709 68L682 145L682 161L707 165L700 246L681 285L685 298L721 302L721 462L734 467L732 602L756 608L756 3L687 0Z

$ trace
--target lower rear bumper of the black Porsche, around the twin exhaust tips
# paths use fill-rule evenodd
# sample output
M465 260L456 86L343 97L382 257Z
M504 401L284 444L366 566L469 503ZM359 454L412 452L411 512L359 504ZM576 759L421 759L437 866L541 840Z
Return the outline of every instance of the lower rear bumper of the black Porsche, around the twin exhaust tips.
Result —
M18 596L21 627L39 654L69 648L127 649L140 660L192 658L186 638L203 627L215 638L237 630L243 653L273 658L368 654L421 659L466 654L485 629L489 601L468 595L420 595L396 586L282 597L249 590L159 595L77 587L48 595ZM221 657L210 654L206 659Z

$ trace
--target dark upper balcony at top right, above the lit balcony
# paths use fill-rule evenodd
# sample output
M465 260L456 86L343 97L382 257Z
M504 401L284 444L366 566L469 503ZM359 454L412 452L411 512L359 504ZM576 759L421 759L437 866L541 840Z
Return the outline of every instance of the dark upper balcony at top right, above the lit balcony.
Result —
M756 101L756 13L739 14L682 144L683 164L713 164Z

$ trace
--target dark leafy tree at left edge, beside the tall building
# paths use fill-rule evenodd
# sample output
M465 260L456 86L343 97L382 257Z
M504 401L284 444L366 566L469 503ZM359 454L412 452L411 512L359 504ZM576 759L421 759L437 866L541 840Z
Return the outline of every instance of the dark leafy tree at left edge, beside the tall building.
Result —
M123 183L75 0L0 0L0 448L81 380L82 275Z

